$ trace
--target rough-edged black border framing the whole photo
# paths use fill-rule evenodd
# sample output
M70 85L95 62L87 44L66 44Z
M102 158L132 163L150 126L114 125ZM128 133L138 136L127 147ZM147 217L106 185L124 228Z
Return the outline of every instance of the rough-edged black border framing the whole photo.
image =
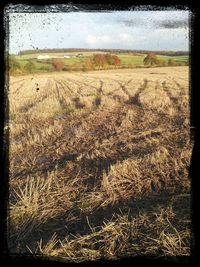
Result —
M20 7L20 11L23 12L44 12L43 8L44 5L54 5L54 4L60 4L60 6L57 7L57 9L53 9L52 6L50 6L51 12L69 12L69 11L112 11L112 10L135 10L136 8L139 7L140 9L146 9L146 10L161 10L161 9L189 9L192 12L191 19L190 19L190 109L191 109L191 118L190 118L190 124L191 124L191 140L194 142L193 146L193 152L192 152L192 158L191 158L191 165L190 165L190 176L191 176L191 181L192 181L192 221L193 221L193 244L192 244L192 255L191 257L178 257L176 260L174 258L169 259L169 261L161 261L161 260L152 260L150 258L133 258L133 259L121 259L118 261L114 262L94 262L94 263L84 263L83 265L90 265L90 264L106 264L109 263L111 265L117 265L117 264L153 264L156 266L160 266L160 264L191 264L194 263L194 260L198 258L198 251L200 251L200 245L199 245L199 238L198 238L198 227L197 225L200 225L200 220L198 219L198 214L197 214L197 209L200 206L200 201L198 198L198 192L197 192L197 181L198 181L198 173L200 170L200 130L199 130L199 124L198 124L198 114L199 114L199 91L198 91L198 64L200 62L199 58L199 53L197 52L197 47L200 47L200 38L198 36L198 26L200 25L200 12L198 10L198 5L195 6L195 4L191 4L190 1L179 1L180 3L177 3L178 1L171 1L171 3L163 3L160 1L160 3L157 1L121 1L121 3L117 3L115 1L109 1L107 4L102 3L90 3L90 1L73 1L73 2L66 2L66 1L50 1L47 0L44 2L40 1L24 1L24 0L13 0L13 1L2 1L3 6L1 9L2 12L2 33L4 36L3 41L3 49L1 49L1 57L2 61L4 64L0 64L1 66L1 73L2 73L2 89L0 91L0 95L2 97L2 102L3 105L0 106L0 111L3 117L3 121L5 122L8 119L8 99L6 95L6 90L8 89L8 83L9 83L9 77L5 75L5 70L6 70L6 62L7 58L5 56L5 51L8 51L8 40L6 39L8 34L9 34L9 29L8 29L8 24L6 23L7 19L5 16L5 8L7 7L8 4L27 4L30 5L29 8L22 8ZM66 5L68 7L66 8ZM19 8L19 7L18 7ZM46 7L46 10L49 10L49 7ZM23 10L22 10L23 9ZM197 11L198 10L198 11ZM17 12L17 11L16 11ZM3 138L1 138L1 148L2 148L2 153L1 153L1 166L3 168L0 168L1 170L1 182L2 186L1 191L0 191L0 211L2 212L1 220L2 227L1 227L1 256L2 260L4 263L9 263L9 264L18 264L18 263L28 263L31 264L32 266L35 266L36 264L42 264L42 265L47 265L51 266L52 264L65 264L62 262L53 262L53 261L42 261L40 259L33 259L32 257L26 257L25 255L16 257L15 259L11 259L7 247L7 241L6 241L6 234L7 234L7 225L6 225L6 217L8 215L8 210L7 210L7 201L8 201L8 192L9 192L9 162L8 162L8 152L9 152L9 129L4 131L4 122L1 124L0 128L0 133ZM3 200L3 201L2 201Z

